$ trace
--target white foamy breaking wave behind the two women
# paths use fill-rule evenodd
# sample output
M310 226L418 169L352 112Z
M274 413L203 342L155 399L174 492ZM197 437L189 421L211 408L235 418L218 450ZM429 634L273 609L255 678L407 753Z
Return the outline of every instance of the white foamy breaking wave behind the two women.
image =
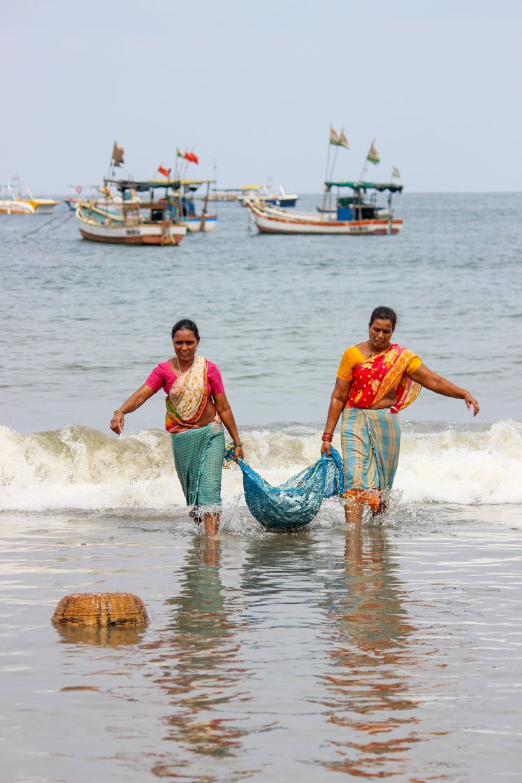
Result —
M247 460L277 485L318 456L320 435L250 431ZM340 449L338 436L334 446ZM395 489L403 503L522 503L522 424L430 435L406 432ZM114 438L78 426L20 435L0 427L0 510L182 511L170 438L144 430ZM239 501L237 500L239 498ZM225 503L244 503L242 474L223 474Z

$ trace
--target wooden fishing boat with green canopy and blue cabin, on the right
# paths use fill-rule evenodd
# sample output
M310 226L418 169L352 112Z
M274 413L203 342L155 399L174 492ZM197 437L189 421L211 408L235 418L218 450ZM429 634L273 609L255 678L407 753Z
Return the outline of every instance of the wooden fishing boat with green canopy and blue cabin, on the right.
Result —
M335 211L331 204L333 189L350 188L349 197L335 197ZM347 234L376 236L398 234L401 218L394 218L391 198L401 193L402 185L394 182L325 182L326 197L322 211L299 212L273 207L261 200L247 199L247 207L260 233L272 234ZM377 193L388 192L387 207L376 202ZM383 210L386 210L383 212Z

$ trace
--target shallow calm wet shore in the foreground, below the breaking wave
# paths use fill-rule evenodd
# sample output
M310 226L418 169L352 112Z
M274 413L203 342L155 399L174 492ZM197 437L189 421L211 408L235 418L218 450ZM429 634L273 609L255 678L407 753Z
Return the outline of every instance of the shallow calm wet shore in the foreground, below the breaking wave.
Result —
M469 781L520 770L520 507L325 504L272 535L231 511L7 514L5 781ZM57 630L128 590L142 631Z

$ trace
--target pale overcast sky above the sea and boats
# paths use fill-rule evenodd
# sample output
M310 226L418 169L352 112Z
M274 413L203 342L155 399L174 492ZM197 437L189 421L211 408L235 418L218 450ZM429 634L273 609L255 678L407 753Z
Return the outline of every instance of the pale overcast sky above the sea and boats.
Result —
M0 0L0 182L100 182L174 166L223 187L318 193L376 139L406 192L522 189L520 0ZM332 148L333 149L333 148Z

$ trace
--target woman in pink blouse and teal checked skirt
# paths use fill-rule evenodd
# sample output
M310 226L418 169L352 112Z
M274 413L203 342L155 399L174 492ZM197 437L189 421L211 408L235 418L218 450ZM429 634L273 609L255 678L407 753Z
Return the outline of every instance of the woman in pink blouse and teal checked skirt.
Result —
M182 484L190 515L205 532L218 532L221 514L221 471L225 455L223 424L234 442L234 460L243 457L236 421L218 366L196 355L200 332L182 319L172 327L175 356L154 367L145 383L114 411L110 429L120 435L126 413L132 413L163 388L165 429L171 434L176 473Z

